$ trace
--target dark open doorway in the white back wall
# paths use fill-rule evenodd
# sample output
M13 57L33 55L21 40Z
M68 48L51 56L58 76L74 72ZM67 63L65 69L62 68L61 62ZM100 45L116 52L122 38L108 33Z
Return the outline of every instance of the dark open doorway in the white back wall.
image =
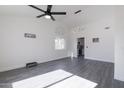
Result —
M85 55L84 51L85 40L84 37L77 39L77 57L83 57Z

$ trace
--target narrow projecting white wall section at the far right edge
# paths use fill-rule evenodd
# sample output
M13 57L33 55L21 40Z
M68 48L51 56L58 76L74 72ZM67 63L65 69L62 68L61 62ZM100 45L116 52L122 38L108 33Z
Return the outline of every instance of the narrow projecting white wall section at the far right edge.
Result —
M115 79L124 81L124 6L115 11Z

